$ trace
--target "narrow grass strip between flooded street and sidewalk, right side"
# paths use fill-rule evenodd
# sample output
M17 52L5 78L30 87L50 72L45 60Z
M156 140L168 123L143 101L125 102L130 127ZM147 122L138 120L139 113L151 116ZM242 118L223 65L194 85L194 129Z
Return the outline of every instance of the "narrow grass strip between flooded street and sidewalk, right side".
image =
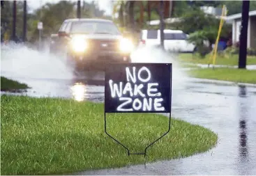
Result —
M190 77L202 79L218 79L238 83L256 83L256 70L243 70L235 68L199 68L188 70Z

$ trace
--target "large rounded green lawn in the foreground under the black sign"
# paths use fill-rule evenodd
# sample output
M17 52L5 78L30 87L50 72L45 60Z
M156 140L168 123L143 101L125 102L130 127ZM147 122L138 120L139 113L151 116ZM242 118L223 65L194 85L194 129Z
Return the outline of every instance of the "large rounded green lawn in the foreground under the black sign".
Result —
M144 163L104 133L103 104L1 95L1 175L51 175ZM107 115L107 130L131 152L143 152L168 129L156 114ZM148 161L188 157L216 145L209 129L172 119Z

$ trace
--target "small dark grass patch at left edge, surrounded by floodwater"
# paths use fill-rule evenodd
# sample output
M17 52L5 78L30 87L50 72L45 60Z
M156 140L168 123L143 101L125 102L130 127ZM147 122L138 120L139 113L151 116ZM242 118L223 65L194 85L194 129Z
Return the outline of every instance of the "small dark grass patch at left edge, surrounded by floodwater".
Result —
M9 90L19 90L29 88L25 83L19 83L18 81L13 81L7 79L6 77L1 77L1 91Z

